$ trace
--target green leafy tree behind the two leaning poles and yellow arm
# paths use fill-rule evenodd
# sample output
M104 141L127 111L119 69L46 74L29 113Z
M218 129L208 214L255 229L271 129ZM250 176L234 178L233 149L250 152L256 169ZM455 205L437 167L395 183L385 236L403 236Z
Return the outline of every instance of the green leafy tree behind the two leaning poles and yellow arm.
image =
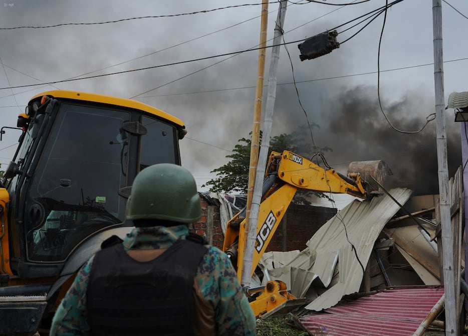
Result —
M328 147L314 150L313 146L308 145L310 143L310 137L307 138L308 134L308 131L305 132L303 128L300 128L289 134L283 133L274 136L270 140L270 152L291 150L304 157L310 157L315 152L331 150ZM260 134L260 140L262 140L262 133ZM238 142L232 149L232 154L226 155L229 161L211 171L211 173L216 173L216 178L203 185L203 187L210 187L210 192L247 193L252 140L243 137Z

